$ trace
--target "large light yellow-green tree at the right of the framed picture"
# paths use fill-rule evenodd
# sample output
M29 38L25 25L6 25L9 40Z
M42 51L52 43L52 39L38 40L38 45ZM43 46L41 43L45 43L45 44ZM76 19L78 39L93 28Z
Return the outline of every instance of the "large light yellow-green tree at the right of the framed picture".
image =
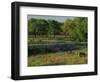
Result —
M87 23L87 17L75 17L66 19L61 28L67 40L87 41Z

